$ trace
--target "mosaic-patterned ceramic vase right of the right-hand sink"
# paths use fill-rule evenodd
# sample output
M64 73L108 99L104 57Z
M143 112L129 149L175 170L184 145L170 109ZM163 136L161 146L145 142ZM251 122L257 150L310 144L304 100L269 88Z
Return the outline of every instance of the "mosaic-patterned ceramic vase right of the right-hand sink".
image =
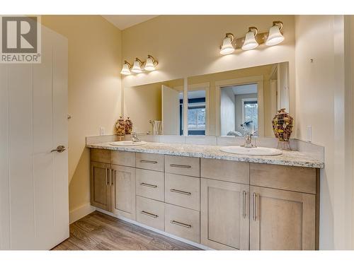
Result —
M290 135L292 133L292 123L294 119L289 113L285 112L285 109L278 110L275 114L272 124L273 131L276 138L278 138L278 148L290 149Z

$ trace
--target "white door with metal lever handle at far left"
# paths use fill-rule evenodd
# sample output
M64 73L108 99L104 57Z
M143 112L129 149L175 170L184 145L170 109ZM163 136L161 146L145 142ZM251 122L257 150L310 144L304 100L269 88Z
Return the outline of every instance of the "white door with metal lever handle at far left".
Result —
M42 27L41 64L0 64L0 249L69 237L67 39Z

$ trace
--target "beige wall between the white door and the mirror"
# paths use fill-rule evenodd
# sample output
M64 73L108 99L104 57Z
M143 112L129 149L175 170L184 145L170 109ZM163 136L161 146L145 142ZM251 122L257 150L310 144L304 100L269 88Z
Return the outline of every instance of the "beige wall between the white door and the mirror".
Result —
M101 16L42 16L69 41L69 208L89 205L85 137L113 134L121 110L121 32Z

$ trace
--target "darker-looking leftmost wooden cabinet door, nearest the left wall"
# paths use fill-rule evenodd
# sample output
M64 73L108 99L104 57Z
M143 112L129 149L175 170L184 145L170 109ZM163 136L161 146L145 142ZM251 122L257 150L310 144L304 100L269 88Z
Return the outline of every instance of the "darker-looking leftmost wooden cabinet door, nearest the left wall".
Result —
M110 211L110 164L91 161L91 205Z

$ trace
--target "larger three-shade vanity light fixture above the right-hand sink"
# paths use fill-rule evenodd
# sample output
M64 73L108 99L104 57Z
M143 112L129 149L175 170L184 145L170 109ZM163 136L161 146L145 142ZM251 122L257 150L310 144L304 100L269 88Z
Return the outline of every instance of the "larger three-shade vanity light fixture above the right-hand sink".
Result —
M258 45L265 44L267 46L278 45L285 40L282 35L282 22L273 21L272 27L268 33L258 33L256 27L249 27L249 31L245 37L234 38L232 33L226 33L226 37L222 40L222 46L220 47L220 54L232 54L235 49L256 49Z

